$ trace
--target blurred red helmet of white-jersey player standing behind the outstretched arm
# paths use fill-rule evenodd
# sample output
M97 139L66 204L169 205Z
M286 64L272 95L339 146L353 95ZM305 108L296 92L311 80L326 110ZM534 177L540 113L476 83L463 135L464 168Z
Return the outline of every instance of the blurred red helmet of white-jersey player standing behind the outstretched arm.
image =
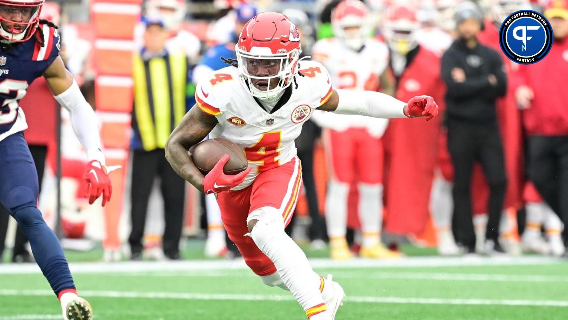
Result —
M359 0L341 1L333 9L331 25L336 38L353 50L360 50L371 36L369 10Z

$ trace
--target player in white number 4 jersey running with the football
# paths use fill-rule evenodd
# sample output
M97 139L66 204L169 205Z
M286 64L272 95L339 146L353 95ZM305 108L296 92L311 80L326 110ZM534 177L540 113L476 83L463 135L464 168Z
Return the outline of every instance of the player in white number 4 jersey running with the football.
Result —
M217 194L229 238L262 282L290 290L308 318L335 319L343 289L331 276L326 280L316 274L284 231L302 186L294 140L318 108L429 120L438 107L428 96L413 97L405 104L373 91L334 90L323 65L300 61L298 29L279 13L260 13L249 20L235 51L237 60L228 60L231 66L199 82L198 108L191 108L170 136L166 157L198 190ZM230 121L234 118L239 121ZM225 154L203 176L187 150L208 134L243 147L248 169L224 174L229 160Z

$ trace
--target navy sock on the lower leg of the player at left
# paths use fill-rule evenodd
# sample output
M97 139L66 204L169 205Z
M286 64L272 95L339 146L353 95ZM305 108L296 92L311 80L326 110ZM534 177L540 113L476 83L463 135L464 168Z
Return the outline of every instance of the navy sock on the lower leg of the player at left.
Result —
M13 216L30 240L34 259L56 296L62 290L75 289L59 239L45 224L41 212L35 207L24 207L16 210Z

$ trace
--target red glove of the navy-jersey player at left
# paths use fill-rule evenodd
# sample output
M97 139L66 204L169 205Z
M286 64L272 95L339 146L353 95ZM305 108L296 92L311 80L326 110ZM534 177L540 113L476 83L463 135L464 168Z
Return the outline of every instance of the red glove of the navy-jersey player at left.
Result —
M85 197L89 197L89 204L93 204L102 194L104 207L110 201L112 194L112 184L108 178L106 166L101 165L101 162L97 160L87 163L83 180L85 181Z

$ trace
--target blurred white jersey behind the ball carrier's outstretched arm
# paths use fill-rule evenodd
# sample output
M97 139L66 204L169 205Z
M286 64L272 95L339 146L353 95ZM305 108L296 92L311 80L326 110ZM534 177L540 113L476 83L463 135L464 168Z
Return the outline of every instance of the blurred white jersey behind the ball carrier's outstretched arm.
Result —
M375 91L379 76L389 65L389 48L375 39L367 39L359 52L346 47L339 39L322 39L314 44L313 51L314 59L325 65L337 89ZM314 121L337 131L366 128L374 137L381 137L389 123L387 119L321 111L314 113Z

